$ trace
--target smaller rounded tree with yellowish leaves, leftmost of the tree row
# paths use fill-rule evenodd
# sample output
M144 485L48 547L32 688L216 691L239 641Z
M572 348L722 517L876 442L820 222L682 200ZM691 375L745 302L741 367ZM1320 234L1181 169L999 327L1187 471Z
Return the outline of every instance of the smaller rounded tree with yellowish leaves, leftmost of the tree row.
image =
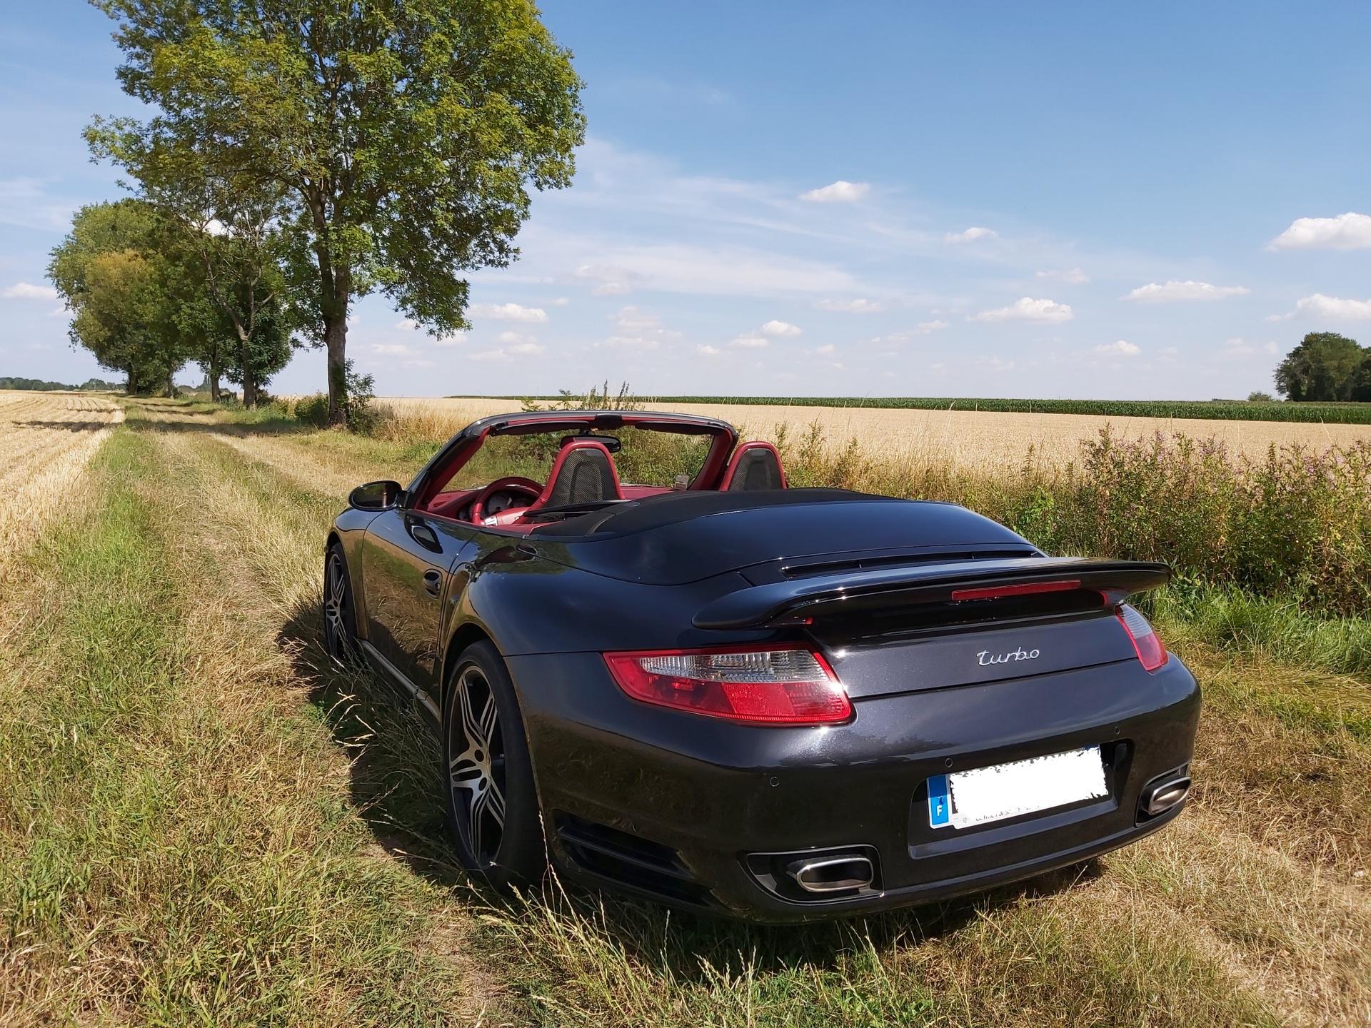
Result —
M192 355L177 323L180 276L162 255L163 237L165 225L145 203L90 204L77 211L48 265L74 314L71 341L122 371L130 393L170 393L171 376Z

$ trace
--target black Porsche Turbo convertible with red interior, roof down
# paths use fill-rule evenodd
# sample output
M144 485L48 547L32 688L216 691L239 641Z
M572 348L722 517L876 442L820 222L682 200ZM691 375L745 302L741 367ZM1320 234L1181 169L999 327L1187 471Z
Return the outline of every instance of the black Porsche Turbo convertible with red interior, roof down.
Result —
M520 472L521 474L510 474ZM947 503L787 488L710 418L506 414L329 533L329 651L439 721L458 854L757 921L942 899L1167 824L1200 689L1126 599Z

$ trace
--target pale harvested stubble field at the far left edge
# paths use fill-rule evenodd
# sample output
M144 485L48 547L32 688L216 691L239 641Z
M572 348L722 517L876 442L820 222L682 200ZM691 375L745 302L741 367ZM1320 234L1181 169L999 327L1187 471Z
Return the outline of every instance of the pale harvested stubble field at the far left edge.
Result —
M37 536L119 421L123 411L108 396L0 391L0 570Z

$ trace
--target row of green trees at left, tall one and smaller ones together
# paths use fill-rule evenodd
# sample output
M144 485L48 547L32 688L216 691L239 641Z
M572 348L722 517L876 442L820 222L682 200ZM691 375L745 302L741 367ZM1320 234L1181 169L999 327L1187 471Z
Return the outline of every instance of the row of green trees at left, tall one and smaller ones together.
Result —
M531 185L570 182L581 82L532 0L97 5L152 114L86 130L137 200L81 211L52 278L130 385L195 359L251 403L293 339L328 348L340 424L351 304L466 328L462 273L517 255Z

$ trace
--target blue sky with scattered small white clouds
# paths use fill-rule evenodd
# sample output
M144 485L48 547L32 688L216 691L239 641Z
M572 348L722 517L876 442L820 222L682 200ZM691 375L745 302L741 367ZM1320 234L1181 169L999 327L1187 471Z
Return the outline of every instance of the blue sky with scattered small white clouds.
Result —
M548 0L570 189L435 340L361 300L384 395L1245 396L1371 343L1371 7ZM0 15L0 376L104 376L44 280L118 195L110 23ZM184 380L195 378L188 370ZM273 384L322 387L302 351Z

